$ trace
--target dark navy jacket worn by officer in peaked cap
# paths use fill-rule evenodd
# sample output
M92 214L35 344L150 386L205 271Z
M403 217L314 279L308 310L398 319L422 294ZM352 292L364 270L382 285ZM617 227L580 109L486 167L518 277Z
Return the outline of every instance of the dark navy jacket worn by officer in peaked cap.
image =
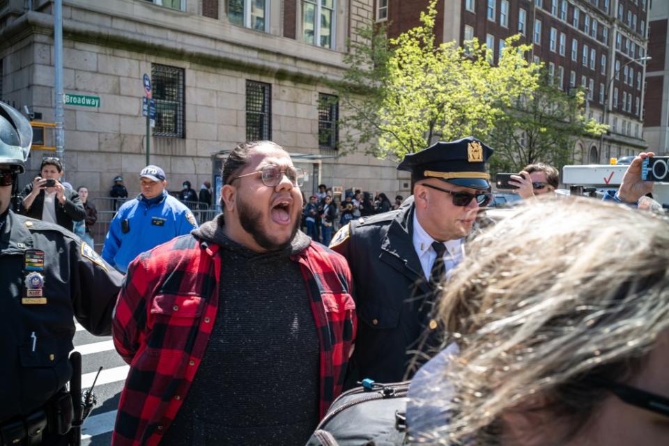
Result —
M416 351L435 343L429 310L436 290L413 247L414 212L409 197L397 210L353 220L330 243L351 267L359 321L346 388L363 378L394 383L412 376Z

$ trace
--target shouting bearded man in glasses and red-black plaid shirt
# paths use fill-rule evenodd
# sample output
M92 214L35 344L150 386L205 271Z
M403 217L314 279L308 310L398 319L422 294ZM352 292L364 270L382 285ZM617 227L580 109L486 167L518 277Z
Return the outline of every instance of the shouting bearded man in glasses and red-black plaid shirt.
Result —
M346 261L298 231L303 182L281 146L240 144L223 213L130 263L115 445L307 442L341 392L356 319Z

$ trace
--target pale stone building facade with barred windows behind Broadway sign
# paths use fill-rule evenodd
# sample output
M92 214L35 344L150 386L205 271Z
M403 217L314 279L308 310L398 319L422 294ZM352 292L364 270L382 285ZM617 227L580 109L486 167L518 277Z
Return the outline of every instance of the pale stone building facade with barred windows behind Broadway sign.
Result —
M100 98L99 107L64 107L66 180L104 197L122 174L139 191L146 73L156 108L151 163L170 190L183 180L215 184L224 153L258 138L295 154L307 195L318 183L406 195L394 162L334 148L346 110L323 79L341 75L346 40L358 38L351 30L369 20L372 0L64 0L64 92ZM0 0L0 97L47 123L52 36L51 2ZM29 174L49 155L33 150Z

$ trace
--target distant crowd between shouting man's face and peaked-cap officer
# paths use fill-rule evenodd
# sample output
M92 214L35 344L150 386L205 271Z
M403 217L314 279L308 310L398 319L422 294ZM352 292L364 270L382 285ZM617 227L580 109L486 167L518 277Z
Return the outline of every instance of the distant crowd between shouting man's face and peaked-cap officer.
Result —
M307 197L302 192L301 229L313 240L329 245L332 236L351 220L385 213L401 206L403 197L397 195L394 203L383 192L374 196L359 189L349 190L337 197L327 185L318 185L318 192Z

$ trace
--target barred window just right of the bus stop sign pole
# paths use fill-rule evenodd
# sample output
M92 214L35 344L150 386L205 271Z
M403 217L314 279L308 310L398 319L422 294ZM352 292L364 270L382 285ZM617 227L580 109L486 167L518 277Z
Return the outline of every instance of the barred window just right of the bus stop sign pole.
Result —
M185 70L166 65L151 66L157 137L185 138Z

